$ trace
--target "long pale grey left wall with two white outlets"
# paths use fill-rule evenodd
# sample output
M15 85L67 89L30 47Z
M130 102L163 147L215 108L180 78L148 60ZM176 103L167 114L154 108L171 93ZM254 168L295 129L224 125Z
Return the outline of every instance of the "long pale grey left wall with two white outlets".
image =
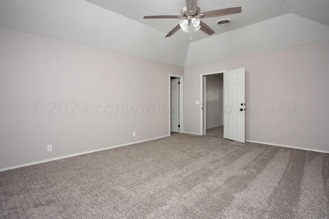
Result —
M169 134L169 74L184 68L5 28L0 38L0 169Z

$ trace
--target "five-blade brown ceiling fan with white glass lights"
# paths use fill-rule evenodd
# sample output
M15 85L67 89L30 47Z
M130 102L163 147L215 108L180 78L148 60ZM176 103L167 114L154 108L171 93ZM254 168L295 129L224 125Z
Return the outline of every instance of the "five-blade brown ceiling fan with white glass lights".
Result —
M186 0L186 7L180 10L181 15L155 15L155 16L144 16L144 19L150 18L181 18L184 21L181 21L174 29L172 29L166 37L169 37L176 33L180 28L185 31L189 32L189 28L194 26L195 31L200 29L203 32L211 35L215 33L208 25L204 22L200 21L199 18L208 18L208 17L218 17L218 16L225 16L230 14L237 14L241 13L241 7L235 8L224 8L218 9L213 11L206 11L200 13L200 8L196 6L197 0ZM192 24L192 25L190 25ZM192 39L192 37L190 38Z

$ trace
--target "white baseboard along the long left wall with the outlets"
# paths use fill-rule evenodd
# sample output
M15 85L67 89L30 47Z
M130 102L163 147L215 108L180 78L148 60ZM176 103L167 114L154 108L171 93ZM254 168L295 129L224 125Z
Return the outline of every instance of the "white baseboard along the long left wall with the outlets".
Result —
M96 150L92 150L92 151L86 151L86 152L81 152L81 153L69 154L69 155L60 156L60 157L54 157L54 158L50 158L50 159L42 160L42 161L36 161L36 162L32 162L32 163L27 163L27 164L21 164L21 165L17 165L17 166L13 166L13 167L7 167L7 168L0 169L0 172L1 171L5 171L5 170L20 168L20 167L26 167L26 166L30 166L30 165L34 165L34 164L41 164L41 163L45 163L45 162L49 162L49 161L56 161L56 160L60 160L60 159L63 159L63 158L68 158L68 157L71 157L71 156L78 156L78 155L82 155L82 154L86 154L86 153L93 153L93 152L103 151L103 150L107 150L107 149L111 149L111 148L117 148L117 147L122 147L122 146L137 144L137 143L141 143L141 142L148 142L148 141L151 141L151 140L156 140L158 138L168 137L168 136L169 135L160 136L160 137L154 137L154 138L150 138L150 139L142 140L142 141L138 141L138 142L132 142L132 143L127 143L127 144L122 144L122 145L116 145L116 146L111 146L111 147L107 147L107 148L96 149Z

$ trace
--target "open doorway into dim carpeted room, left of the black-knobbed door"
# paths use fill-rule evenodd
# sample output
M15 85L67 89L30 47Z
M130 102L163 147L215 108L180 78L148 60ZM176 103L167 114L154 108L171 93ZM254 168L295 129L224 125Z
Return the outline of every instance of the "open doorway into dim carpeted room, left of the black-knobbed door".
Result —
M204 135L224 137L223 73L204 75Z

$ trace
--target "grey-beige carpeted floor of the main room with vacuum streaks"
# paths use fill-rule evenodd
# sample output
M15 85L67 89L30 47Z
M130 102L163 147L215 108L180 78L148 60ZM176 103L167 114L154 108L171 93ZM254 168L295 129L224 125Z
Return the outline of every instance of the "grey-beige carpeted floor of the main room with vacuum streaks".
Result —
M329 218L329 154L158 140L0 172L0 218Z

